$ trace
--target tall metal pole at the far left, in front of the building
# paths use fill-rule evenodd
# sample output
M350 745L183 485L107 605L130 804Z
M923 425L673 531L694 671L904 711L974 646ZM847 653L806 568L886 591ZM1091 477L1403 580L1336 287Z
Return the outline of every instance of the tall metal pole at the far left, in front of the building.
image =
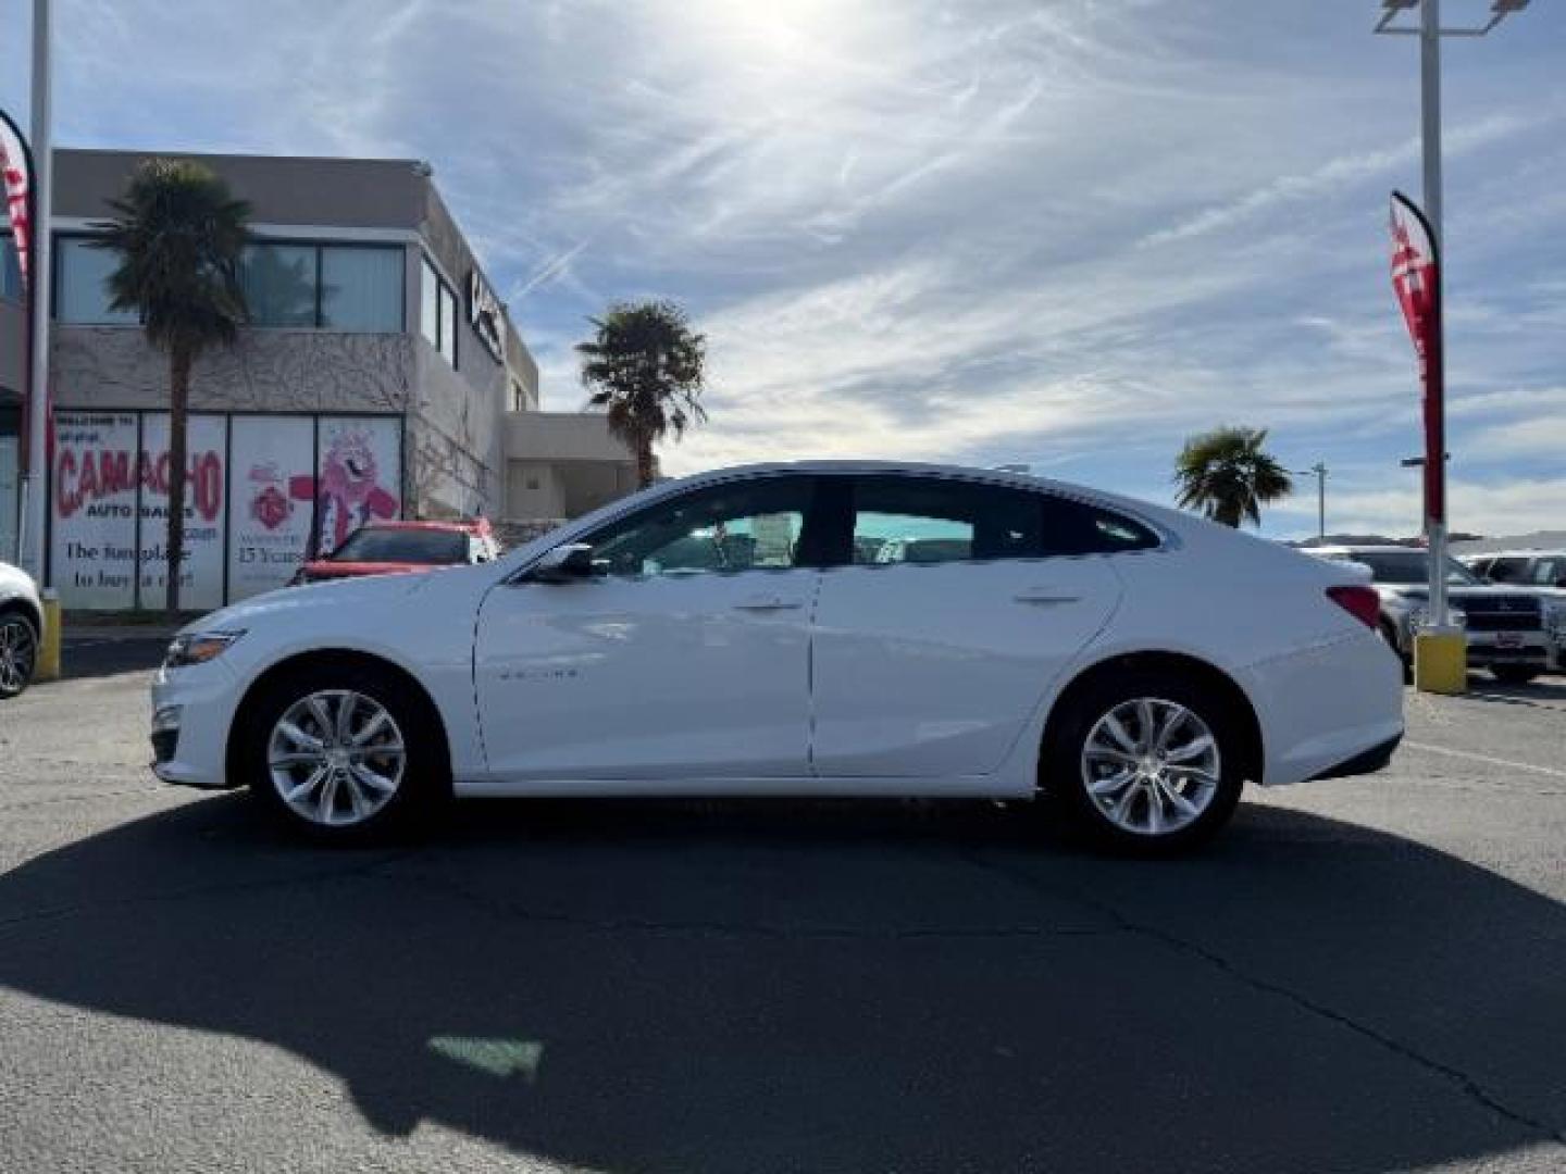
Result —
M49 83L50 14L49 0L33 0L33 257L28 274L28 290L33 299L33 371L28 380L28 435L27 435L27 549L22 551L23 567L39 582L44 582L44 534L49 520L49 318L50 285L53 277L53 194L55 153L49 139L50 83Z

